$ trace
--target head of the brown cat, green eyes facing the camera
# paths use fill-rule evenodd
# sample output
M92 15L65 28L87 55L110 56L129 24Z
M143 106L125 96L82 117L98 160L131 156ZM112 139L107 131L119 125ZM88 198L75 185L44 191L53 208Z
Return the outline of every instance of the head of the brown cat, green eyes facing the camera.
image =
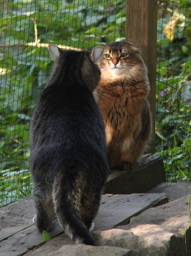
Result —
M129 42L113 42L105 45L102 59L98 60L102 74L119 76L133 72L137 74L140 69L146 71L144 61L140 55L141 50Z

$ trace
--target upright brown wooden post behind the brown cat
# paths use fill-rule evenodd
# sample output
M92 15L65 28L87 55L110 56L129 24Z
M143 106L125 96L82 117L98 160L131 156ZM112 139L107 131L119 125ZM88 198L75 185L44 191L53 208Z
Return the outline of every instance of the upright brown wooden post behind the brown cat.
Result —
M141 49L148 68L148 100L153 115L153 141L150 147L152 153L155 153L156 34L157 0L126 0L126 41Z

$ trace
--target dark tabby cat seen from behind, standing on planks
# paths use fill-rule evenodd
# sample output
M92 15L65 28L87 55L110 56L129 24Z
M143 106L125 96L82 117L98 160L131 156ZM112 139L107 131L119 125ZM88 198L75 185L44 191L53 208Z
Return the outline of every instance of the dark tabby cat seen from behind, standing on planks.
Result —
M49 50L56 62L30 127L35 223L51 230L55 212L74 242L95 245L89 229L109 172L104 123L92 94L103 46L91 53Z

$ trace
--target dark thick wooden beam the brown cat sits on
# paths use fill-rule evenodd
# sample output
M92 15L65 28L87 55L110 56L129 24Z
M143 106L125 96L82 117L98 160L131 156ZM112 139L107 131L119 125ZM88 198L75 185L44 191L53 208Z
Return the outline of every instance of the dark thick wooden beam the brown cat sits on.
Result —
M132 170L111 170L104 193L132 194L145 193L166 181L162 158L157 154L147 154Z

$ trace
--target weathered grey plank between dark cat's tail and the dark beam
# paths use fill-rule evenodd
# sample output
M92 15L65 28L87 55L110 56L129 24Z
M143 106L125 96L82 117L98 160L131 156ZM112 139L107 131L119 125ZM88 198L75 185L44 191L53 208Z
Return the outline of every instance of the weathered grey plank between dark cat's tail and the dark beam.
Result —
M164 194L105 195L99 214L95 218L95 229L127 225L129 220L165 199Z

